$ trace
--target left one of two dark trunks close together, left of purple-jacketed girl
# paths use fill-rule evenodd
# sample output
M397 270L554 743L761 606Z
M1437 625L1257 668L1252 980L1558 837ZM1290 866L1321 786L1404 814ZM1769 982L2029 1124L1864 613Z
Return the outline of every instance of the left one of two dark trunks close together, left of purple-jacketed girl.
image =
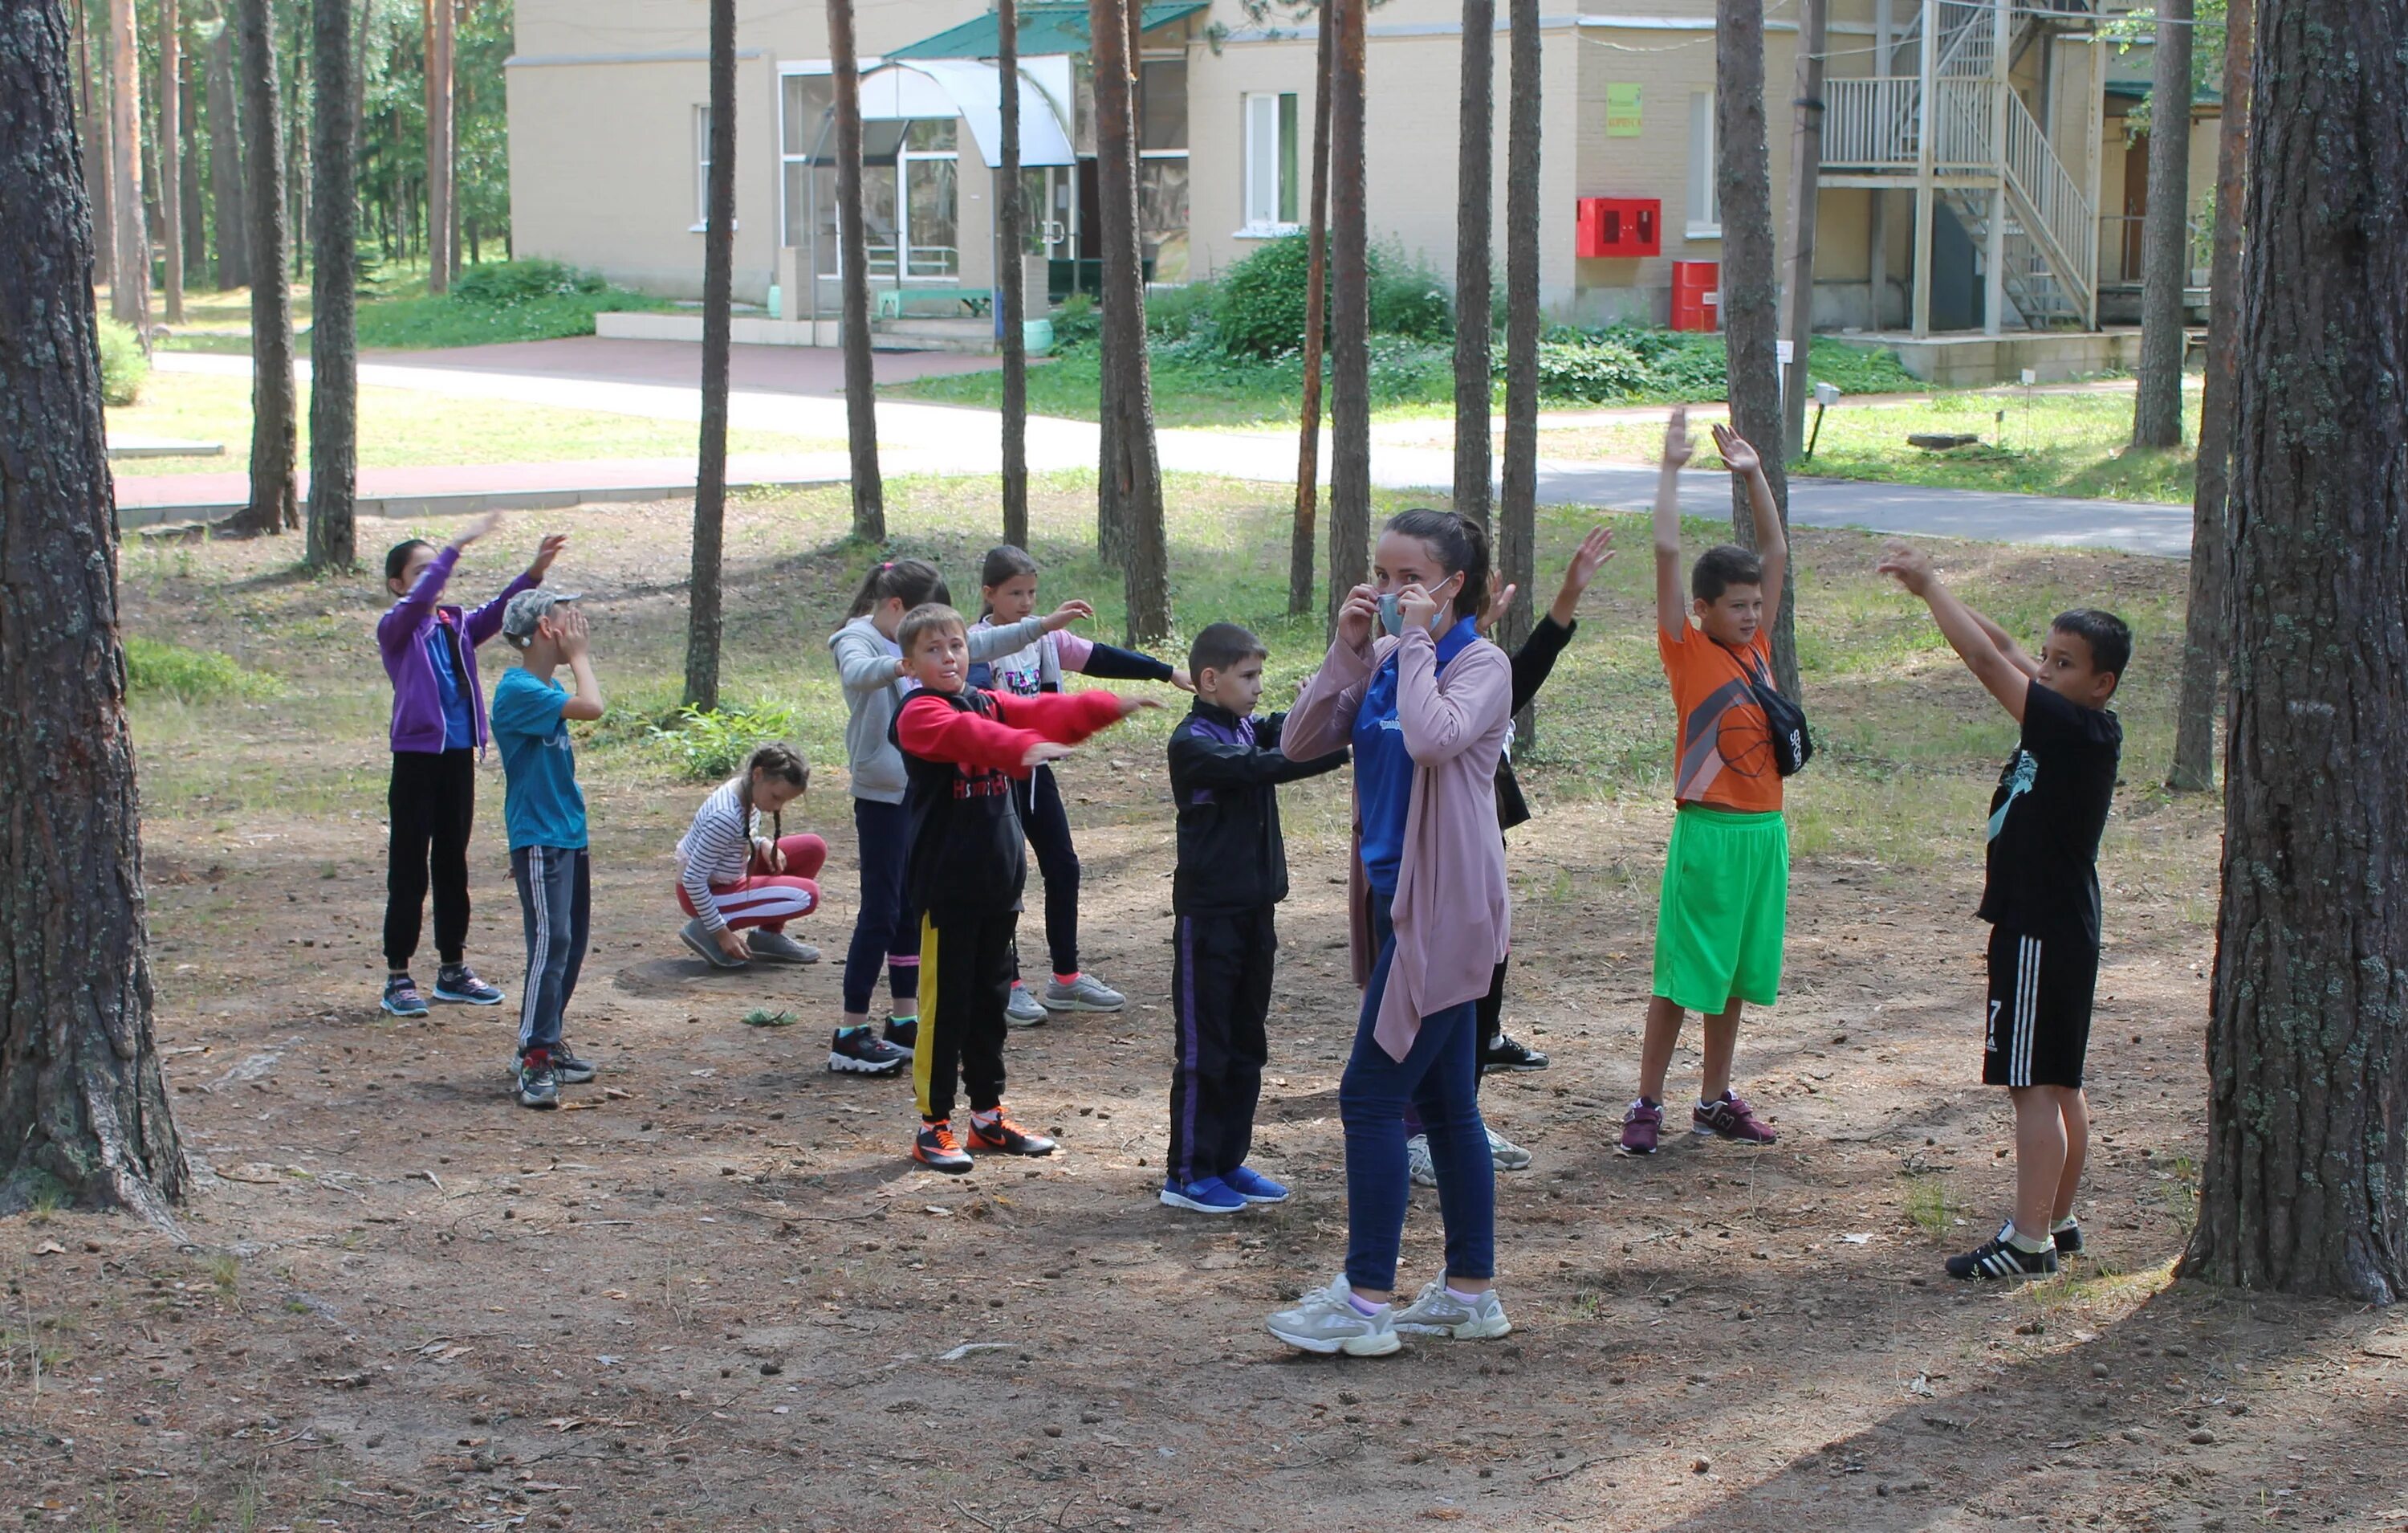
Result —
M229 533L282 533L301 525L294 499L294 292L284 260L284 133L277 116L277 34L272 0L236 0L243 43L243 121L250 159L250 504L226 518Z

